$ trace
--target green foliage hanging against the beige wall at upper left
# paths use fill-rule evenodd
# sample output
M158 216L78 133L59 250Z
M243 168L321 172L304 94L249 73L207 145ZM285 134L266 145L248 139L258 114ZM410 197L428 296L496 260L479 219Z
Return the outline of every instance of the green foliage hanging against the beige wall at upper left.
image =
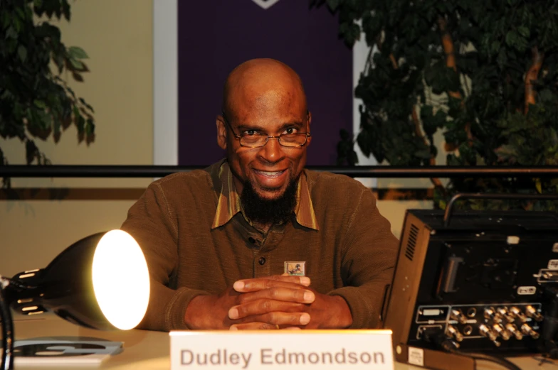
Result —
M0 136L23 141L28 164L49 163L34 138L58 141L72 123L79 141L94 138L93 107L60 78L68 71L83 81L88 55L62 43L60 29L45 21L53 16L70 21L68 0L0 1ZM7 163L0 148L0 165Z

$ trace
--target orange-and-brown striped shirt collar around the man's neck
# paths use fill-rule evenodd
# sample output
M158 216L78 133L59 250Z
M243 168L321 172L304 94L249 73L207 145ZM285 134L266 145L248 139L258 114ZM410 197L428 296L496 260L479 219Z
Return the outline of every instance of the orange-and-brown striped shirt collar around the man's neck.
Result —
M219 180L221 180L221 194L219 195L217 210L215 212L213 224L211 224L211 229L223 226L229 222L235 214L242 212L241 197L238 195L238 192L236 192L233 182L233 173L226 161L219 167ZM318 229L305 172L302 172L300 180L298 181L295 217L298 224L301 226L315 230ZM246 216L244 218L246 219ZM249 222L248 219L246 221ZM251 222L249 223L251 224Z

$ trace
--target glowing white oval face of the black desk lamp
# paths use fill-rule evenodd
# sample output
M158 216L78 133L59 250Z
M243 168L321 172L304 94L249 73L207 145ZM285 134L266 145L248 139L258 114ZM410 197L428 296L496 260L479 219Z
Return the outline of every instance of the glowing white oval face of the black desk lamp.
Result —
M142 321L149 302L149 271L137 241L122 230L102 236L93 256L93 290L107 320L122 330Z

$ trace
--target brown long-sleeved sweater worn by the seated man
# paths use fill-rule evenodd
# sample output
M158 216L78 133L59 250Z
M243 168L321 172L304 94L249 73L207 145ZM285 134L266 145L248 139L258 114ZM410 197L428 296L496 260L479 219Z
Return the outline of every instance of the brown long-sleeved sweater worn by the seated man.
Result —
M372 192L344 175L305 170L317 229L293 215L263 235L241 212L212 228L221 164L154 181L122 224L142 246L152 279L140 327L188 329L184 312L196 295L219 294L242 278L282 274L288 261L305 261L312 288L347 301L352 328L378 327L398 242Z

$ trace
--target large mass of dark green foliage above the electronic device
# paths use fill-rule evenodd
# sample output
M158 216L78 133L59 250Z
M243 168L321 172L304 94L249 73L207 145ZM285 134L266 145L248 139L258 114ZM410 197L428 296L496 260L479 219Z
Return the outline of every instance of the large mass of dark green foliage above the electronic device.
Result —
M363 101L356 143L365 155L433 164L441 131L448 165L558 164L554 0L310 1L322 4L337 11L347 45L362 34L370 47L355 89ZM539 72L528 74L537 61ZM342 162L354 164L342 143ZM451 179L436 190L443 208L454 192L558 192L558 180ZM468 206L558 210L556 202Z

